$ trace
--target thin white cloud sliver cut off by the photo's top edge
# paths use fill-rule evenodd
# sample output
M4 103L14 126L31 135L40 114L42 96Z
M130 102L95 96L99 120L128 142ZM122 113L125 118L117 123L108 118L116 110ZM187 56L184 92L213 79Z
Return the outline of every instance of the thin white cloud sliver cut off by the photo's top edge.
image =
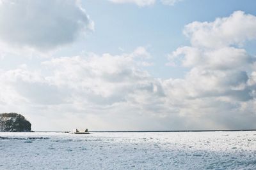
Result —
M148 6L156 3L156 0L109 0L113 3L123 4L123 3L132 3L138 6ZM161 0L161 3L165 5L173 6L175 3L182 0Z

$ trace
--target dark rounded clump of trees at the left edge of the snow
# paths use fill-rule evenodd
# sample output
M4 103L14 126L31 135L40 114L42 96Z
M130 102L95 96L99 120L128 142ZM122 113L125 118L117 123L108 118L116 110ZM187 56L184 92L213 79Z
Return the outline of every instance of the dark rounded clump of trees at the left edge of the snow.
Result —
M0 132L31 132L31 124L20 114L1 113Z

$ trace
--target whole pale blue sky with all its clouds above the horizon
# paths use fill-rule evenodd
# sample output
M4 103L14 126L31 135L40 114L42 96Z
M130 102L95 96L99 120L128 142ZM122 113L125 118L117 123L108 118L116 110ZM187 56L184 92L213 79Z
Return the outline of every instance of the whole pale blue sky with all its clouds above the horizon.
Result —
M256 129L255 6L0 0L0 112L34 131Z

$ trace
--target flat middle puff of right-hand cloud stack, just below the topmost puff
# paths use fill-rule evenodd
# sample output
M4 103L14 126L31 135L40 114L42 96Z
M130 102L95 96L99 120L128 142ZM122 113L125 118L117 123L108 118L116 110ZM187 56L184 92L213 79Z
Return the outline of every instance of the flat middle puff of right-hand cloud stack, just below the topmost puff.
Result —
M204 67L204 69L243 69L252 64L255 57L242 48L223 46L215 50L205 50L194 46L182 46L168 55L170 62L181 61L184 67Z

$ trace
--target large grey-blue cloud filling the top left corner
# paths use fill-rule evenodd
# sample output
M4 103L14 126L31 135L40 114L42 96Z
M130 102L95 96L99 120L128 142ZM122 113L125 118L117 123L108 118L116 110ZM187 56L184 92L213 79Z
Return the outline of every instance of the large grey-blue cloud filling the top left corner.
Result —
M3 0L0 40L10 46L51 50L93 29L77 1Z

